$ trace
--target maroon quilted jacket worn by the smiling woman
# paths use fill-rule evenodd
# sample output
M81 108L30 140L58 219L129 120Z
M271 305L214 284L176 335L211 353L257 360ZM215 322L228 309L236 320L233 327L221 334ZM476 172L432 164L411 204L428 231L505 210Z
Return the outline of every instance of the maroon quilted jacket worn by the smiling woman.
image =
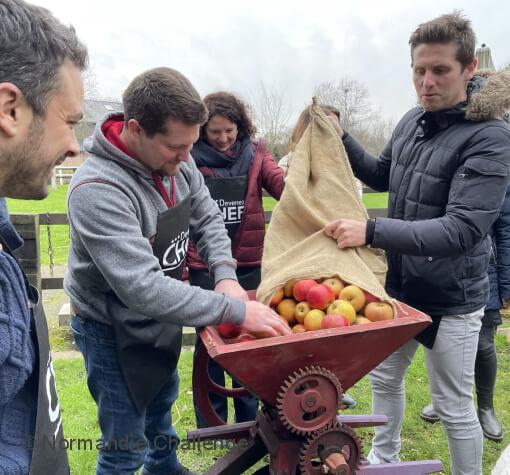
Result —
M264 249L265 220L262 207L262 188L279 200L283 191L283 170L274 161L264 141L253 144L255 156L248 172L248 188L244 204L244 215L232 242L232 255L238 267L258 267ZM204 177L212 176L207 167L200 167ZM206 269L198 256L196 247L190 242L188 267Z

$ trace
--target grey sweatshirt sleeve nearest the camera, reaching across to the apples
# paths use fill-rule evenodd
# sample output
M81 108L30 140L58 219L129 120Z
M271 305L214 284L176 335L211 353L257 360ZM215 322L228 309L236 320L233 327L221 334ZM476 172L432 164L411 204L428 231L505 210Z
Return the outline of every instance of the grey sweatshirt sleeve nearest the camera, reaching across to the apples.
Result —
M121 302L141 316L187 326L241 324L245 305L164 275L141 232L133 202L116 186L92 182L69 196L72 238ZM207 221L206 221L207 223Z

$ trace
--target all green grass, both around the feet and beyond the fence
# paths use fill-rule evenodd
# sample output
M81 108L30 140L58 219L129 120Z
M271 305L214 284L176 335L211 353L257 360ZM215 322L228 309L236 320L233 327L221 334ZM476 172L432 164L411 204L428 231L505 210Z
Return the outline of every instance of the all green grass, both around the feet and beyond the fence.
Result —
M9 210L11 213L64 213L66 212L66 191L67 187L58 187L43 201L8 200ZM364 202L368 208L384 208L386 207L386 200L387 195L384 193L367 193L364 195ZM264 208L266 210L273 209L275 204L275 200L264 198ZM47 264L47 227L42 226L40 232L42 261L43 264ZM69 246L68 227L51 226L51 236L55 250L55 263L65 264ZM69 338L67 329L60 328L52 336L52 341L55 341L55 338L62 340L62 349L67 347ZM500 366L496 387L496 408L507 435L505 435L502 444L485 441L484 475L490 474L490 469L494 466L501 450L510 442L510 436L508 435L510 430L508 396L510 394L510 346L505 343L500 335L497 337L497 348ZM195 425L191 398L191 367L192 352L184 351L179 363L181 375L180 396L173 411L174 422L181 438L184 438L186 431L193 429ZM62 400L66 438L92 439L95 441L99 438L96 406L86 387L86 373L82 359L60 359L55 361L55 368ZM370 413L370 388L366 378L350 389L349 393L358 402L352 413ZM448 474L450 466L447 441L441 426L439 424L428 425L418 415L421 407L429 401L429 397L423 352L419 351L407 376L408 406L402 433L402 457L403 460L439 458L444 463L444 473ZM365 448L368 449L371 430L360 430L358 434L361 435L365 442ZM203 450L201 452L181 450L179 457L183 463L200 473L211 466L222 453L220 450ZM95 450L74 449L69 451L69 456L73 474L87 475L94 473L97 458Z

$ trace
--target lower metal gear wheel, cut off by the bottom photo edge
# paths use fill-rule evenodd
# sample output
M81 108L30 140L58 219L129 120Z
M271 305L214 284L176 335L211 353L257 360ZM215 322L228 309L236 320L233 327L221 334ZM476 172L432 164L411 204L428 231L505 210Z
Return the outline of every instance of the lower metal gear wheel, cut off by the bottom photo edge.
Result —
M299 452L302 475L354 475L363 460L360 439L349 426L338 422L311 434Z

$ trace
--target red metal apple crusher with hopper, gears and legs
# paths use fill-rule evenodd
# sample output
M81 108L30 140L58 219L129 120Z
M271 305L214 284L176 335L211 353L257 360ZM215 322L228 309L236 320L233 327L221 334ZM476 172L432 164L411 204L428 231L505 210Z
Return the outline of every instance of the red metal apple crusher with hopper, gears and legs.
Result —
M213 327L200 332L203 347L193 372L193 391L211 427L188 439L245 439L218 460L208 474L239 475L270 454L263 474L426 474L439 461L369 465L353 428L381 425L385 416L338 415L343 392L430 324L430 317L397 302L389 321L290 336L224 341ZM263 403L255 422L225 425L209 393L241 396L246 390L216 385L207 372L209 358Z

